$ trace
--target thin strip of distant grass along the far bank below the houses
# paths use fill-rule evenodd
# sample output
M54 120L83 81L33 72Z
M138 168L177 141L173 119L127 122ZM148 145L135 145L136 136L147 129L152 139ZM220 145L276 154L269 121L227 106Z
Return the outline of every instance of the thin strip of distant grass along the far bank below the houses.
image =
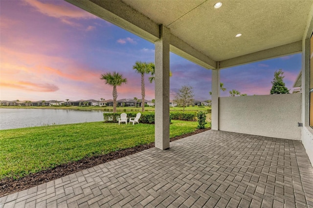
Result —
M55 105L55 106L5 106L1 105L1 108L35 108L35 109L73 109L73 110L101 110L101 111L112 111L113 107L100 107L100 106L64 106L64 105ZM141 107L117 107L117 111L141 111ZM185 107L185 111L206 111L211 109L211 106L192 106ZM155 111L155 107L145 107L145 111ZM182 111L182 107L170 107L170 111Z

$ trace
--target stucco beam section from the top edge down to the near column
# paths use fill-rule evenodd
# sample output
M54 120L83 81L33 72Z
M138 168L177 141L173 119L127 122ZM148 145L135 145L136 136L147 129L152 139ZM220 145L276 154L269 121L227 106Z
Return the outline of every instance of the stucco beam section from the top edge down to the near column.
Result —
M159 37L159 26L121 0L66 0L150 42Z

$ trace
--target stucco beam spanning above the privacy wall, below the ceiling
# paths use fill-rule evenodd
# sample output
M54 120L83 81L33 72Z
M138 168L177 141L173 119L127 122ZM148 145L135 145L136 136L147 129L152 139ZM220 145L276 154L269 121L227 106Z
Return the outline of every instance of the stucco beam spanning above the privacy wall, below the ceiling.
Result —
M250 53L244 56L224 60L220 62L220 69L238 66L251 62L259 62L267 59L277 58L281 56L287 56L302 51L302 41L292 42L286 45Z

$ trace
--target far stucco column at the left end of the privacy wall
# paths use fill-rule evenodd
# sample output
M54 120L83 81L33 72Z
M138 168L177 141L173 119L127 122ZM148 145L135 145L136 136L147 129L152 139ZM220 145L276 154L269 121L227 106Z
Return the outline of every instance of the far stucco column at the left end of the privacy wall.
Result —
M217 65L219 63L217 62ZM219 97L220 97L220 69L212 69L212 114L211 128L219 130Z

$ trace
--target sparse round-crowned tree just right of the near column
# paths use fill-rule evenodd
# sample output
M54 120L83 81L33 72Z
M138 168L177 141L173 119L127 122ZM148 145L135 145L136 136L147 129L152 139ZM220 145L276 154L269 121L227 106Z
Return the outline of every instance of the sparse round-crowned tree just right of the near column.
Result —
M179 106L182 106L182 112L185 111L185 107L193 104L194 102L194 91L192 89L192 86L183 85L178 93L176 93L176 96L174 98L174 103L178 104Z

